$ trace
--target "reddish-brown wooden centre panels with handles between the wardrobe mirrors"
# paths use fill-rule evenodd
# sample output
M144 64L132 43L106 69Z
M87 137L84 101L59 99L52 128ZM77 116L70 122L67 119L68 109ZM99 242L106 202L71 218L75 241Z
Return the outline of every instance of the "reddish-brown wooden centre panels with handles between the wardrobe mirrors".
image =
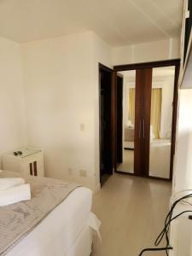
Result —
M148 176L152 68L136 70L134 173Z

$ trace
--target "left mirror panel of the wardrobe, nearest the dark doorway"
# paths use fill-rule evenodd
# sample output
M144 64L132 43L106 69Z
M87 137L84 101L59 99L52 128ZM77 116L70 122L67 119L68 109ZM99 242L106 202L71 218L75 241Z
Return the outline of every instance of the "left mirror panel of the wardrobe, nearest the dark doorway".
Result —
M120 76L123 79L122 90L119 84ZM135 97L136 71L119 72L117 77L117 150L120 152L121 147L122 158L117 151L118 172L134 172ZM121 102L119 102L120 98L122 98Z

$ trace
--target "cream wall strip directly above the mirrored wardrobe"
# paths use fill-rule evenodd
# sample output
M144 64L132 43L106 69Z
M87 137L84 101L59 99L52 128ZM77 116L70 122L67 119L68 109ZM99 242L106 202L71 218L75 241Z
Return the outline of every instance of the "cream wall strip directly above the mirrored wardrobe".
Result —
M179 40L166 39L143 44L125 45L113 48L112 62L114 65L161 61L179 57Z

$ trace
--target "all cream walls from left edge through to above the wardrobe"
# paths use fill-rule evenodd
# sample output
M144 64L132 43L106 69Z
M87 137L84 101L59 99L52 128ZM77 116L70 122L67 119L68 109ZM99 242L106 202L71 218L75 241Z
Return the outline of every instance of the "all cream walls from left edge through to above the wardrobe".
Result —
M4 151L26 143L26 131L20 45L0 42ZM27 140L44 149L47 176L99 188L98 62L112 67L176 57L173 43L112 49L94 32L84 32L21 45ZM87 177L79 177L79 170L87 171Z

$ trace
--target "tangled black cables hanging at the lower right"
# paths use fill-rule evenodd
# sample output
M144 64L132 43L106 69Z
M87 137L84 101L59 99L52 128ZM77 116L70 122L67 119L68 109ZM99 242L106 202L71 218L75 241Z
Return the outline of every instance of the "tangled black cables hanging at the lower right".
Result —
M179 216L181 216L183 213L186 212L192 212L192 211L183 211L178 213L176 216L174 216L172 218L172 213L174 208L177 206L177 203L180 201L184 201L185 199L188 199L192 197L192 194L189 195L184 195L183 197L177 199L177 201L174 201L174 203L172 204L172 207L170 209L170 211L168 212L168 214L166 215L166 220L165 220L165 224L164 224L164 228L163 230L160 232L160 235L157 237L157 239L154 241L154 246L159 246L160 242L162 241L163 237L166 237L166 247L160 247L160 248L145 248L143 249L143 251L139 254L139 256L142 256L143 253L145 252L150 252L150 251L165 251L166 255L168 256L168 250L172 250L172 247L170 246L170 241L169 241L169 236L168 236L168 232L170 230L170 225L172 223L172 221L175 218L178 218ZM184 201L186 202L186 201ZM189 203L190 204L190 203Z

